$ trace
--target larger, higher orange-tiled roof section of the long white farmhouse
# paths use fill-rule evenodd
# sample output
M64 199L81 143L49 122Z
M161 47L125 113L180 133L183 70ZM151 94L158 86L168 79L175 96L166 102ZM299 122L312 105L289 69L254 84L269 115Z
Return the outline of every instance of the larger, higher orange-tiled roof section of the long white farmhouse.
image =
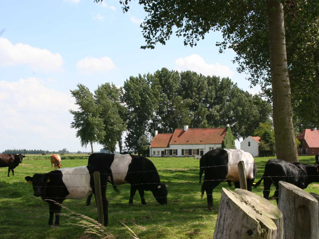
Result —
M171 144L221 144L226 128L175 129Z

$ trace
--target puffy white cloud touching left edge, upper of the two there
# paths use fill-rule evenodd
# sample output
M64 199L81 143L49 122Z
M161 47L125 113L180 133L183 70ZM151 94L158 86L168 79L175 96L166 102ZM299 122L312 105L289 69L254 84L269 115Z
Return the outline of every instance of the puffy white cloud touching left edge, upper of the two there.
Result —
M62 56L47 49L31 47L27 44L13 45L6 38L0 38L0 67L29 65L34 71L61 71Z

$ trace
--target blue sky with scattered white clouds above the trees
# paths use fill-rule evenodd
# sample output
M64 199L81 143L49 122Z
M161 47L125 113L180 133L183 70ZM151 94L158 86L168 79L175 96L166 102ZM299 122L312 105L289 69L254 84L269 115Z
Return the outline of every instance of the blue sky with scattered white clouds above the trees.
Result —
M140 49L145 41L139 25L145 17L138 1L123 13L118 0L1 0L0 152L90 151L70 128L69 110L77 109L70 90L78 83L93 92L100 84L123 86L130 76L166 67L228 76L252 94L260 90L249 88L247 76L236 72L233 50L219 54L219 32L206 34L193 48L172 36L165 46ZM93 148L100 151L102 146Z

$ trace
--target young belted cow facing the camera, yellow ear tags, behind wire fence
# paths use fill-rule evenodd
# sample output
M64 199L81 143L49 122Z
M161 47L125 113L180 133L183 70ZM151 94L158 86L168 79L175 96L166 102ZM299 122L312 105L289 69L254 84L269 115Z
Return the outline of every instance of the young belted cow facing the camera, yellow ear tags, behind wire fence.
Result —
M34 196L41 196L49 203L49 225L53 224L53 214L56 214L55 225L59 226L61 206L65 199L82 199L92 193L95 195L93 173L100 172L101 193L103 202L104 225L108 225L108 200L106 185L108 177L113 182L112 171L105 164L64 168L45 174L34 174L25 177L32 182ZM58 202L59 204L56 204Z

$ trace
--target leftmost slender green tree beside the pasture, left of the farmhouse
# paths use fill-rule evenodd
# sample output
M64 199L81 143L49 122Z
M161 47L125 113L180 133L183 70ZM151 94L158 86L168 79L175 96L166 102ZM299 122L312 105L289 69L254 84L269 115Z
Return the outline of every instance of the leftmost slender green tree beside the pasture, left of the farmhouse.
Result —
M78 89L70 90L75 98L75 104L78 110L69 110L73 114L71 128L77 129L76 136L80 138L81 146L91 145L93 153L93 142L99 142L103 139L105 131L103 120L100 119L100 107L95 104L93 94L82 85L77 85Z

